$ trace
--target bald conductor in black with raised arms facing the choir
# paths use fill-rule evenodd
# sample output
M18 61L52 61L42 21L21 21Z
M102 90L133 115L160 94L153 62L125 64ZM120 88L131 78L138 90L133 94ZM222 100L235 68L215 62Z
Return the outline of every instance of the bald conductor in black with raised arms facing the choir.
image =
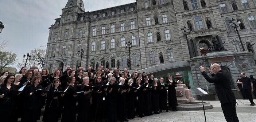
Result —
M209 71L212 75L210 78L206 72L205 68L202 66L199 67L203 77L207 82L214 83L216 93L220 99L221 108L224 114L224 117L227 122L239 122L236 115L236 98L230 87L230 80L226 74L224 74L220 68L220 65L213 64Z

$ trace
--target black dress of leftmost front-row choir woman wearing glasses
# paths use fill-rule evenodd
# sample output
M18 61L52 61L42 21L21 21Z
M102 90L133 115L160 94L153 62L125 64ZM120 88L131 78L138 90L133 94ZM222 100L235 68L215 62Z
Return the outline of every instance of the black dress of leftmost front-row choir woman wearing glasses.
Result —
M11 88L8 89L6 85L2 84L0 88L0 95L5 94L10 90L18 90L18 86L11 84ZM1 122L17 122L18 116L16 115L16 100L17 96L4 96L0 98L0 118Z

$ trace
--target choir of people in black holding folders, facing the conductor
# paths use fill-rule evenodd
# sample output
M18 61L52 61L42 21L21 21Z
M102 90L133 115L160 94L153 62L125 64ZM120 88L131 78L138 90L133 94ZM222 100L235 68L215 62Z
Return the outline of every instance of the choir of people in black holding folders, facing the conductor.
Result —
M1 122L36 122L42 108L44 122L128 122L137 115L168 112L168 106L178 111L177 82L171 75L164 81L104 66L85 72L81 66L77 71L67 66L65 72L54 69L52 74L23 67L19 73L0 77Z

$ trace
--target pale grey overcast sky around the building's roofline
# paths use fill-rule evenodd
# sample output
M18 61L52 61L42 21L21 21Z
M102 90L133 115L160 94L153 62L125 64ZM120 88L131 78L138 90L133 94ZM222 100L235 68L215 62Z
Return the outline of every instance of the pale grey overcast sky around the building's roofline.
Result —
M35 48L47 45L49 27L59 18L61 9L68 0L0 0L0 21L4 29L0 33L0 42L8 41L5 48L23 55ZM136 0L83 0L85 11L115 7L136 2ZM13 65L16 67L16 64Z

